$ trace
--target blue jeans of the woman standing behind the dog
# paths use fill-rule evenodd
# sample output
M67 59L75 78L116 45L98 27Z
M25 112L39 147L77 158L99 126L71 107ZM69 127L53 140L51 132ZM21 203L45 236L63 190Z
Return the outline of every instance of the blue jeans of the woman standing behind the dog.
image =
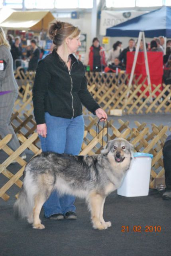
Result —
M59 154L79 154L84 136L84 119L82 115L68 119L51 116L46 112L45 122L47 136L46 138L39 136L43 152L53 151ZM45 217L48 218L58 213L65 214L69 211L75 212L74 202L74 196L59 196L56 190L53 191L43 205Z

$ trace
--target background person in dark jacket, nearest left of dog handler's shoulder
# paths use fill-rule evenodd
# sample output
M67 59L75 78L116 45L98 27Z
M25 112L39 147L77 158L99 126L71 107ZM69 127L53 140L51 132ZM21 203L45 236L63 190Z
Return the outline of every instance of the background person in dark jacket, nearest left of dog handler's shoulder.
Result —
M40 58L40 50L34 39L31 40L31 56L29 58L28 71L35 71Z

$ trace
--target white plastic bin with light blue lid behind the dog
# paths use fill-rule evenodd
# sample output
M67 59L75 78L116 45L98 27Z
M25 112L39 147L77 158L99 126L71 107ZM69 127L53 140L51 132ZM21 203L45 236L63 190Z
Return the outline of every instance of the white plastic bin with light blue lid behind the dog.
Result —
M118 188L120 196L148 196L152 154L134 153L134 160Z

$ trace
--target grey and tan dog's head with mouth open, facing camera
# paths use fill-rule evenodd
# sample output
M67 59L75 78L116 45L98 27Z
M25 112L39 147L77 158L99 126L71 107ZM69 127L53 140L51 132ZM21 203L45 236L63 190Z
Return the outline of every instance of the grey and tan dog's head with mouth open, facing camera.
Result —
M102 154L112 154L115 162L121 163L125 158L133 158L133 145L125 139L110 140L105 148L101 151Z

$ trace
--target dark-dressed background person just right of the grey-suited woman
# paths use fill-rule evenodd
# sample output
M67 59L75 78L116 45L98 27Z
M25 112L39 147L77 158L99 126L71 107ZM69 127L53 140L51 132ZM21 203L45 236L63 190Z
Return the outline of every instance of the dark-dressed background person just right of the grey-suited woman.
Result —
M14 62L14 69L22 65L22 47L20 46L20 38L15 38L15 43L11 46L11 54Z

